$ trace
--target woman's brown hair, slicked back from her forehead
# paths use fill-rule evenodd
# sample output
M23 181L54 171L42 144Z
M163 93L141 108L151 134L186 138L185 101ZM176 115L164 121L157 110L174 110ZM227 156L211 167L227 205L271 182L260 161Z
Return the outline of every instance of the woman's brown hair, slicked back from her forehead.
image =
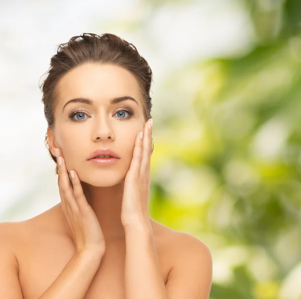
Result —
M142 94L144 121L152 118L150 111L153 105L149 92L153 81L153 72L136 47L111 33L101 35L83 33L70 38L67 43L58 45L57 53L51 57L50 67L43 75L45 78L39 85L43 92L42 103L44 104L45 118L51 130L55 126L56 87L60 78L71 69L86 62L114 64L130 71L136 77ZM45 143L51 158L57 163L56 156L49 149L47 133ZM152 152L153 150L154 145ZM57 165L55 172L58 174Z

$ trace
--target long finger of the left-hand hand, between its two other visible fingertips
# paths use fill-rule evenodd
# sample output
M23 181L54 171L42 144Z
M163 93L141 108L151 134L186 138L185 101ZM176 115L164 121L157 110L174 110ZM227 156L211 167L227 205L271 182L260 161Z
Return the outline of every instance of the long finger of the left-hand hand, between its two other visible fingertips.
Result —
M65 201L65 206L71 208L72 212L78 213L79 208L76 203L75 197L73 195L73 189L71 187L70 179L68 176L67 167L65 164L65 159L61 156L62 164L59 165L59 180L60 180L60 196L63 201Z

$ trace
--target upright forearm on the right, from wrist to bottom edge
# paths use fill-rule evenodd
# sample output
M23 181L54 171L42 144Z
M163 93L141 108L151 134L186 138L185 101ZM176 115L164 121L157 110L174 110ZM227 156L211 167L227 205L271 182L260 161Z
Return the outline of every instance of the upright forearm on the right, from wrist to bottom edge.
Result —
M168 299L152 227L125 230L125 298Z

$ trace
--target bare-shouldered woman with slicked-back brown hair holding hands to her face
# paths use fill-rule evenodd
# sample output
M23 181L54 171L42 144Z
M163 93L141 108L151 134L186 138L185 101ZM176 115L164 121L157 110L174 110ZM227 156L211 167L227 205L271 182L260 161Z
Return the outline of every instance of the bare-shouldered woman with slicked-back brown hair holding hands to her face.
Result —
M148 216L152 70L113 34L58 47L41 88L61 202L0 226L2 299L207 299L212 259Z

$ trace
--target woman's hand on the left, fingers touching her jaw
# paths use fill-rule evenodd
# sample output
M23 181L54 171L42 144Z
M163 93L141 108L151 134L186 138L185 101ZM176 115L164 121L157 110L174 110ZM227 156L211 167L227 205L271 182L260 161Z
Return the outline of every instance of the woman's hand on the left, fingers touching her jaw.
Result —
M102 256L105 252L104 236L98 219L83 193L80 179L73 170L74 178L72 178L71 184L61 150L55 149L55 152L57 161L59 162L59 157L62 160L61 165L58 166L61 207L75 245L75 251L76 253L90 251Z

